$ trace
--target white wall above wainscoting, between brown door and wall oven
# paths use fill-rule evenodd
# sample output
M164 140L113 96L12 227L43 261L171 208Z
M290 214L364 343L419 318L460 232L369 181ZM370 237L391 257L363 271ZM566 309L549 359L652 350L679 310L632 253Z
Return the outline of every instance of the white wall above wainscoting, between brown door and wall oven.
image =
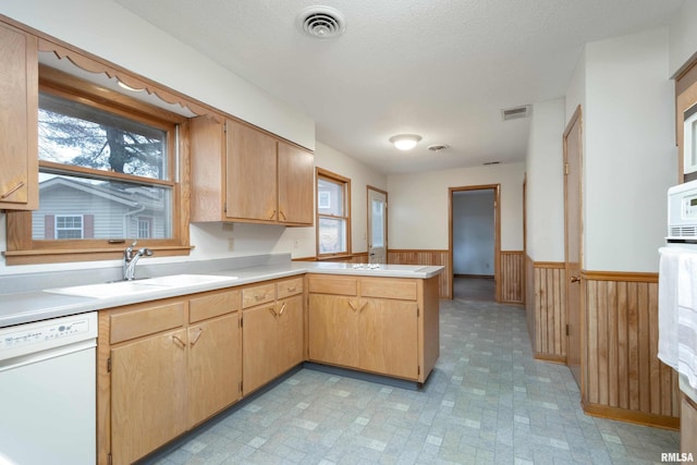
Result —
M584 59L583 268L656 272L676 172L668 30L587 44Z

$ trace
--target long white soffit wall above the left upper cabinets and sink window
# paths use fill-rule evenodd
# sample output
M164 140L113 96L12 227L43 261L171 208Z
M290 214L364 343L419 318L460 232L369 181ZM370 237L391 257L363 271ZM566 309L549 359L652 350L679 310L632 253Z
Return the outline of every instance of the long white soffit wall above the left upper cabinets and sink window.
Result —
M3 0L0 14L309 149L315 122L109 0Z

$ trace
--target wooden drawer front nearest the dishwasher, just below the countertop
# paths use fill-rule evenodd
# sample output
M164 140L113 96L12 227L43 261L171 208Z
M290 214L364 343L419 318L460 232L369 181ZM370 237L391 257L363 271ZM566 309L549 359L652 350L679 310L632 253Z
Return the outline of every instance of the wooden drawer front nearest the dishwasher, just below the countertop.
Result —
M184 302L145 307L122 314L111 315L112 344L154 334L184 325Z

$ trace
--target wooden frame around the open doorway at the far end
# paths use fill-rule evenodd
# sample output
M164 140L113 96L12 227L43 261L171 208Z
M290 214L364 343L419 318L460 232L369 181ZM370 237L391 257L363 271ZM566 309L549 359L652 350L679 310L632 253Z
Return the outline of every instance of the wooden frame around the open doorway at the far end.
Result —
M501 184L481 184L461 187L448 187L448 269L450 270L450 289L448 298L453 298L455 271L453 269L453 195L463 191L493 191L493 282L494 298L501 302Z

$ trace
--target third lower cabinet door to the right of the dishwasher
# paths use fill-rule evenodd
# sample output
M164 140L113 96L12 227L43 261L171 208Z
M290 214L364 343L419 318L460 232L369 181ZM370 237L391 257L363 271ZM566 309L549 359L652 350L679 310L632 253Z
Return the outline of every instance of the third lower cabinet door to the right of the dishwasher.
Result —
M244 395L276 378L279 344L276 303L244 310L242 380Z

